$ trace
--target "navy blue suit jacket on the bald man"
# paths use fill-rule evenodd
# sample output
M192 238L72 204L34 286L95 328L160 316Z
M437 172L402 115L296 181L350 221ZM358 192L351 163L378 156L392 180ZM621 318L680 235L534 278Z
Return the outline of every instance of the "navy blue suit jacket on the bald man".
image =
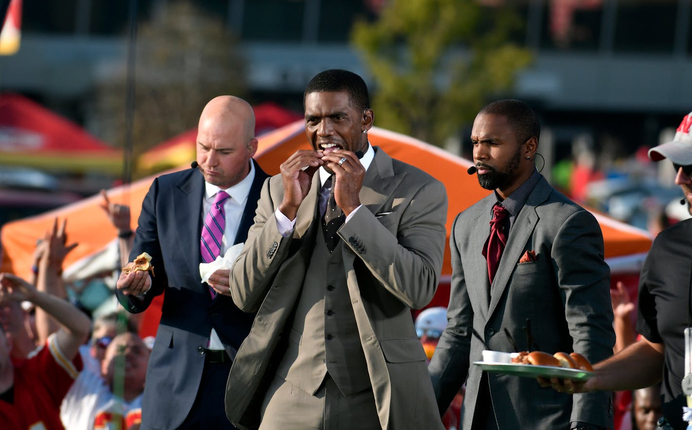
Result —
M253 224L257 200L268 177L255 163L255 179L234 244L245 242ZM228 296L212 300L199 276L199 237L202 226L204 178L197 169L154 179L142 203L142 212L130 254L152 256L152 287L142 300L116 290L129 312L147 309L163 293L161 323L149 358L142 409L145 427L179 427L192 408L204 368L209 334L214 328L231 357L250 332L254 314L241 312ZM219 392L223 398L224 392Z

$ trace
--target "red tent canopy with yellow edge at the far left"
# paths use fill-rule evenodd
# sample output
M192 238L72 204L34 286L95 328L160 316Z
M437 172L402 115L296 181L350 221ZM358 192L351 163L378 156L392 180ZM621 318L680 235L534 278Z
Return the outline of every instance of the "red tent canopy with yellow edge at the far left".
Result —
M64 170L122 170L122 152L41 105L0 96L0 162Z

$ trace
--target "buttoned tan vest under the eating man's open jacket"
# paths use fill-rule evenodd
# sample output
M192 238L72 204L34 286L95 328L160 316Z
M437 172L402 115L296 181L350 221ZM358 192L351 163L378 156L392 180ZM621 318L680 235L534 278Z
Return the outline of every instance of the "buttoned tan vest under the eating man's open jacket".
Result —
M343 244L329 253L321 228L315 238L277 375L313 395L329 372L342 393L358 393L370 386L370 377L346 285Z

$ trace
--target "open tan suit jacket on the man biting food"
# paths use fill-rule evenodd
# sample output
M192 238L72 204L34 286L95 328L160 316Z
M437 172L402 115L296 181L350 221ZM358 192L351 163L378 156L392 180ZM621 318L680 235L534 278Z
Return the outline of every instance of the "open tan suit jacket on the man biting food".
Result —
M319 189L315 174L293 235L283 238L274 216L282 179L266 181L255 224L231 271L233 301L246 312L257 311L226 388L226 415L242 429L259 424L259 405L288 337L286 319L321 228L315 215ZM442 429L410 308L427 305L437 288L446 233L444 185L376 148L360 198L364 207L338 234L381 428Z

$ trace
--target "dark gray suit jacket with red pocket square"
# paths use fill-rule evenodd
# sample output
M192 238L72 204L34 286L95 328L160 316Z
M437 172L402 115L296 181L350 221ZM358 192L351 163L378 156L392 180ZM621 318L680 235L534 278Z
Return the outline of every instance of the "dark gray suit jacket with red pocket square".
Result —
M514 221L489 285L481 251L495 201L489 195L454 222L448 325L429 366L440 411L466 381L464 429L471 428L482 375L472 363L482 361L484 349L513 352L504 330L519 350L574 350L592 363L612 355L615 340L610 269L593 215L541 177ZM528 250L536 251L536 261L519 263ZM527 341L527 319L536 344ZM532 378L488 379L500 429L569 429L571 421L612 428L610 393L570 396L540 388Z

